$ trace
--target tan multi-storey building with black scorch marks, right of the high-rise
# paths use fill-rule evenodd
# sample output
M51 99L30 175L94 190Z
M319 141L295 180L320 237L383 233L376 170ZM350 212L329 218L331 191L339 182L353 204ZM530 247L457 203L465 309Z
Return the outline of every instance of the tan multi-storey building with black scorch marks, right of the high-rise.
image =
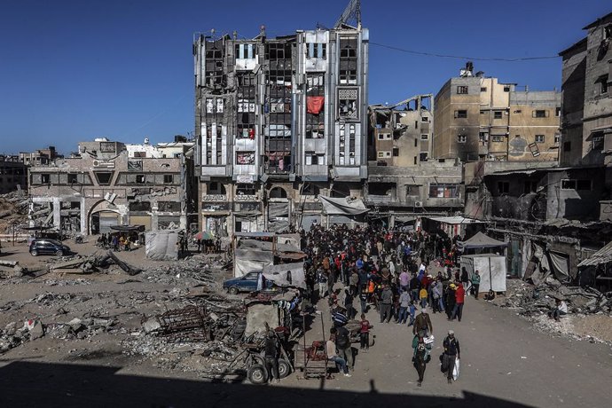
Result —
M517 90L514 83L474 73L468 62L459 77L435 95L433 155L461 161L555 161L560 137L561 94Z

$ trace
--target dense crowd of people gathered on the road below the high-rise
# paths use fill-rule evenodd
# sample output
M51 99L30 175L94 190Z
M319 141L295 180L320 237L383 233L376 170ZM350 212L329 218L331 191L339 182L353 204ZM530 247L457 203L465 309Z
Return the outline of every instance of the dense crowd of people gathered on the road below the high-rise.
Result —
M366 313L373 308L381 324L393 321L412 326L412 363L420 386L433 342L428 309L460 322L467 291L475 289L475 298L478 296L478 271L469 278L465 269L456 267L458 239L373 226L351 229L346 225L317 225L308 233L302 232L302 248L307 254L306 295L312 303L327 299L333 320L327 356L342 373L349 376L354 369L350 333L345 325L357 316L361 318L360 347L367 351L373 326ZM435 276L430 273L430 264L440 266ZM454 362L459 358L459 341L452 331L443 347L440 359L450 383Z

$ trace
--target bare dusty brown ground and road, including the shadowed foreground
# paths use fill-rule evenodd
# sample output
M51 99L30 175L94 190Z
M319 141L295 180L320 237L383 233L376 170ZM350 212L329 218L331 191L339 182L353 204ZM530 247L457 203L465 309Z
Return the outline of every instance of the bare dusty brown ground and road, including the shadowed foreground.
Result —
M79 253L89 244L71 247ZM31 268L50 257L32 258L25 247L12 248L2 259L20 259ZM51 273L35 279L0 280L0 328L27 318L44 324L95 315L116 321L108 330L83 339L45 334L0 356L0 406L608 406L612 380L609 346L577 341L537 330L516 310L467 299L463 321L432 316L435 349L422 388L411 365L412 332L406 326L379 324L374 311L376 343L357 355L352 378L303 380L294 373L279 385L203 381L198 367L209 364L191 348L147 343L140 319L188 302L201 291L185 271L165 273L169 265L144 259L143 250L120 253L145 269L136 277L120 271L100 275ZM202 268L219 263L201 257ZM213 264L213 265L211 265ZM217 282L226 275L214 270ZM202 285L202 283L200 283ZM52 294L52 295L44 295ZM43 297L40 297L43 295ZM65 297L62 297L65 296ZM329 327L326 302L319 303ZM598 318L597 315L592 318ZM603 317L600 317L603 318ZM581 322L576 322L580 330ZM601 325L603 326L603 325ZM307 341L320 339L320 321ZM461 342L459 381L449 385L437 357L444 333L452 328ZM147 349L148 348L148 349ZM197 350L196 350L197 351Z

